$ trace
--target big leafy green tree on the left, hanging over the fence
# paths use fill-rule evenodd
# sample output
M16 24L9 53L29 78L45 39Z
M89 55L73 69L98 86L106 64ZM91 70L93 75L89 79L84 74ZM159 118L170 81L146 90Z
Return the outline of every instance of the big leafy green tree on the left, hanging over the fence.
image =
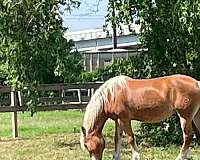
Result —
M75 2L0 0L0 61L6 84L26 89L29 96L33 85L70 82L80 74L80 55L71 52L73 42L63 37L66 28L59 14L61 6Z

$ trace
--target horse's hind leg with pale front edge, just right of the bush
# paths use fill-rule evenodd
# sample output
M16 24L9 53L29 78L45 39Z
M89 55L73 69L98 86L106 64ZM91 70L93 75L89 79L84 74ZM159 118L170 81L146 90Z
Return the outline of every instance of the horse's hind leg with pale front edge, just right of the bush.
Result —
M181 114L179 115L179 117L183 132L183 145L176 160L185 160L189 158L188 151L189 151L189 145L192 140L192 120L191 118L186 118Z

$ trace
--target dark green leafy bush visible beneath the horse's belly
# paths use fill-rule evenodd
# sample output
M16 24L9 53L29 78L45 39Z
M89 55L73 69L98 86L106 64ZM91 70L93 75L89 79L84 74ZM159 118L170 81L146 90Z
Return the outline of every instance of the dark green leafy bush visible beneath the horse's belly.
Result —
M177 114L160 123L141 123L140 128L137 130L139 142L148 143L152 146L181 144L183 139L181 135L182 131Z

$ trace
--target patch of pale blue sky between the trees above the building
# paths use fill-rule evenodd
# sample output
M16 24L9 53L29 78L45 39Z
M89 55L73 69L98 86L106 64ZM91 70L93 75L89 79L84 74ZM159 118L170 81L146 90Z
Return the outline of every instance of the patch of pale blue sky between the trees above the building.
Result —
M78 9L73 9L71 14L67 11L62 15L63 25L68 31L102 28L107 13L107 0L81 0ZM98 8L97 8L98 6Z

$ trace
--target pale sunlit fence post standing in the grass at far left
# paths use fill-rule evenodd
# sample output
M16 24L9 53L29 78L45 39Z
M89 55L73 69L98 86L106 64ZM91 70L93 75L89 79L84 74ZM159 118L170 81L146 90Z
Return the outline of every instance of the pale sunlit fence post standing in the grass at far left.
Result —
M15 90L12 90L10 92L11 96L11 107L15 108L15 111L12 112L12 136L13 138L18 137L18 131L17 131L17 103L16 103L16 93Z

